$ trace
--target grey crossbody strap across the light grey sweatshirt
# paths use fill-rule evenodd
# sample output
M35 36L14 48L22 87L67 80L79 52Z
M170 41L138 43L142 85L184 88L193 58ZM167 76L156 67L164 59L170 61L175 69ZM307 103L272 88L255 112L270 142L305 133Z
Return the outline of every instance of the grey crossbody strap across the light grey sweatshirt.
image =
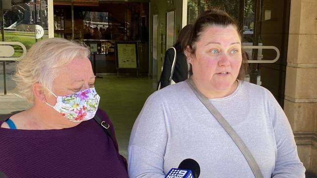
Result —
M206 98L202 93L199 92L197 87L195 86L193 79L189 78L186 80L189 87L194 91L199 100L207 107L207 109L215 116L219 124L227 131L232 140L237 144L238 148L242 152L244 158L248 161L251 170L256 178L263 178L262 173L258 167L256 160L253 158L249 149L246 147L244 142L235 132L235 130L229 125L229 123L222 117L222 115L218 112L218 110L211 104L211 102Z

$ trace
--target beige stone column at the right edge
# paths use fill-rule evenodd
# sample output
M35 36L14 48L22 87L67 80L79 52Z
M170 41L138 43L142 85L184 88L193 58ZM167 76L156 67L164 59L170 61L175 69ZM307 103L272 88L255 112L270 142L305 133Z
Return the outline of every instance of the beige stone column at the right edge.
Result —
M300 160L317 173L317 0L291 0L284 111Z

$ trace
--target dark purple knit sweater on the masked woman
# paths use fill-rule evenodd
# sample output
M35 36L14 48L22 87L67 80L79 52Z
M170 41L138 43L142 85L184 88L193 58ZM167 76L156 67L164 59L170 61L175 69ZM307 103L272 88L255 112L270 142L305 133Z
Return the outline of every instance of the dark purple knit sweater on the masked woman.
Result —
M0 171L8 178L128 178L113 141L94 119L60 130L0 128Z

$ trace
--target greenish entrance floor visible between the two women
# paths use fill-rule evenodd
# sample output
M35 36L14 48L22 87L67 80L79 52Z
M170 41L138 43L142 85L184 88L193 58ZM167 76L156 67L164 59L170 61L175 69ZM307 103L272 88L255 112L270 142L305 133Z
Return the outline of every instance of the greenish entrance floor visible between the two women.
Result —
M156 90L156 83L148 77L104 76L97 78L99 107L110 116L116 129L119 151L127 156L132 126L147 97Z

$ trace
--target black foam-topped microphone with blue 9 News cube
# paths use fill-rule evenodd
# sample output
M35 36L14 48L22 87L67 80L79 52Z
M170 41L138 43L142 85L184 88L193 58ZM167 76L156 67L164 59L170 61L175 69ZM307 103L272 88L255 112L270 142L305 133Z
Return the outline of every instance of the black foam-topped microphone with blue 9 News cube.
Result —
M180 162L178 168L172 168L165 178L198 178L200 167L196 160L186 159Z

